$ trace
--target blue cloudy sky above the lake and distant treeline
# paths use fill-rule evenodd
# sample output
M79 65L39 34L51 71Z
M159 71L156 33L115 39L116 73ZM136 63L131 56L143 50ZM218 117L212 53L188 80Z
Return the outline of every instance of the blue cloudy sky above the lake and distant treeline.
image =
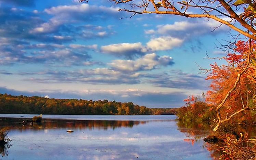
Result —
M135 15L108 0L0 0L0 93L184 106L209 90L230 29L210 19ZM218 28L216 28L218 27Z

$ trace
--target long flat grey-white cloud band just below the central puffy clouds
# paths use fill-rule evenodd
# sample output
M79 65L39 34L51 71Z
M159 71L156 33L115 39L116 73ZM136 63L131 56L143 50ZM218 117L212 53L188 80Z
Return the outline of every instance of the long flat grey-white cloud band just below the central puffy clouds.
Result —
M38 83L89 83L89 84L138 84L140 74L124 74L111 68L80 69L73 71L48 70L41 72L20 72L24 80ZM41 78L41 75L44 75ZM27 78L29 77L29 78Z

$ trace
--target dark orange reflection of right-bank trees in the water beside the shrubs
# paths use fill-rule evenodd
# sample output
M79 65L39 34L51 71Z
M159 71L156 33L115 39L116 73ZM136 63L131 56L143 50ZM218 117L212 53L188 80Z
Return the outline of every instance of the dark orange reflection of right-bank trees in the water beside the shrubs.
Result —
M213 128L210 127L207 122L191 122L191 121L177 121L178 130L180 132L186 133L187 139L184 141L188 142L190 145L194 145L195 142L200 142L203 138L208 137L209 135L217 135L217 137L222 137L223 135L234 135L234 138L240 138L240 133L248 133L249 138L256 137L256 125L237 125L236 123L227 123L222 125L217 132L213 132ZM225 138L225 136L224 136ZM220 155L222 155L222 150L219 149L219 146L223 146L223 141L218 141L217 143L202 143L203 147L206 148L210 157L213 160L219 160ZM244 147L251 145L249 142L244 142Z

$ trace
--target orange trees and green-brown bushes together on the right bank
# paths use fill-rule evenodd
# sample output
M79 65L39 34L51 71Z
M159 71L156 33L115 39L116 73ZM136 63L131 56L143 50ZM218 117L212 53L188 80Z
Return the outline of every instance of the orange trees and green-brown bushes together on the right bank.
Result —
M255 49L253 40L238 41L233 53L225 57L228 65L211 64L206 78L211 81L210 90L202 97L184 99L186 105L177 109L177 116L186 121L209 121L217 129L227 121L236 125L255 122ZM244 72L237 74L241 70Z

